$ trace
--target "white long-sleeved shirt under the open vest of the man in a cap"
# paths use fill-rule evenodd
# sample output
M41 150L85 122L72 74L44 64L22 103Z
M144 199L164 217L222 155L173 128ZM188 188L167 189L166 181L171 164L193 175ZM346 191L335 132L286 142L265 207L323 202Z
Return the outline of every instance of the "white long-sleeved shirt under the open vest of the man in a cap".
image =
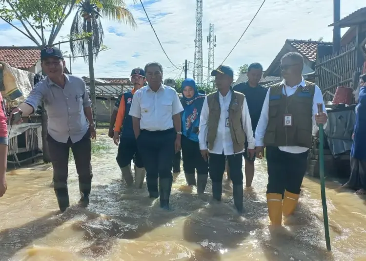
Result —
M230 128L226 127L226 118L229 117L229 106L231 101L231 91L223 96L219 92L219 102L220 102L220 120L219 126L217 128L216 139L214 141L214 145L212 150L208 150L210 153L214 154L223 154L224 155L233 155L234 154L234 146L233 140L231 138ZM200 141L200 149L207 149L207 122L208 122L208 103L207 97L204 99L201 117L200 117L200 133L198 134L198 139ZM242 123L244 127L244 131L246 133L246 138L248 141L248 149L254 149L255 139L253 137L252 130L252 122L249 115L248 105L246 104L246 99L244 99L243 108L242 108ZM237 152L243 153L243 151Z

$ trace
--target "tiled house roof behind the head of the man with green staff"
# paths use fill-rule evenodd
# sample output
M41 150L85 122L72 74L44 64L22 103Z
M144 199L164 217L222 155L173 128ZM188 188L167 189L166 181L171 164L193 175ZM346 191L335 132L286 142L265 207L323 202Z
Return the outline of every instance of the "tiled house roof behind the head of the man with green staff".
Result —
M289 52L297 52L304 56L305 63L312 64L316 61L318 45L332 46L331 42L312 41L312 40L292 40L286 39L284 46L278 55L274 58L268 69L264 73L267 76L280 76L281 57Z

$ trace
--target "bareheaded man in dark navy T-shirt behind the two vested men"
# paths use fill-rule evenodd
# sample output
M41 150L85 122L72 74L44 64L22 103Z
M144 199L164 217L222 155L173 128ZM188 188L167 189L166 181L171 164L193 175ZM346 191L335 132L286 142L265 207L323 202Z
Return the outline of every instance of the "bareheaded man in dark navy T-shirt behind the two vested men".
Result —
M253 132L255 132L259 117L261 116L264 98L267 94L268 89L259 85L259 81L261 80L263 75L263 67L260 63L255 62L250 64L246 75L248 77L248 81L236 84L235 86L233 86L233 90L239 93L243 93L245 95L250 118L252 120L252 129ZM248 142L245 142L244 148L245 151L243 153L243 156L245 161L245 186L250 187L252 186L254 177L255 155L252 158L249 158L249 155L246 151L248 148Z

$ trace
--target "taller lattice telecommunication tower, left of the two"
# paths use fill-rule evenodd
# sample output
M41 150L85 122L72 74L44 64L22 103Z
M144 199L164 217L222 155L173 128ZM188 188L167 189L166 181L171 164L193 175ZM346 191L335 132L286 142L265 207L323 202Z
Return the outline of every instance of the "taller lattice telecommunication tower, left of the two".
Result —
M194 48L193 79L198 85L203 84L203 57L202 57L202 11L203 0L196 0L196 39Z

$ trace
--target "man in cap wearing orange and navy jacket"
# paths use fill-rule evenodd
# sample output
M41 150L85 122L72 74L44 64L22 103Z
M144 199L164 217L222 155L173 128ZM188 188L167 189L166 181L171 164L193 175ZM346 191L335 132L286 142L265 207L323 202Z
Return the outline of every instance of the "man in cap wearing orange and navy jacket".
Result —
M122 177L127 186L132 186L134 182L131 172L131 160L135 156L135 186L142 188L146 171L143 168L142 158L137 149L136 138L132 128L132 116L128 114L130 112L133 94L142 88L145 82L145 72L142 68L132 70L131 82L134 88L131 91L123 93L121 96L113 140L118 145L116 160L121 168Z

